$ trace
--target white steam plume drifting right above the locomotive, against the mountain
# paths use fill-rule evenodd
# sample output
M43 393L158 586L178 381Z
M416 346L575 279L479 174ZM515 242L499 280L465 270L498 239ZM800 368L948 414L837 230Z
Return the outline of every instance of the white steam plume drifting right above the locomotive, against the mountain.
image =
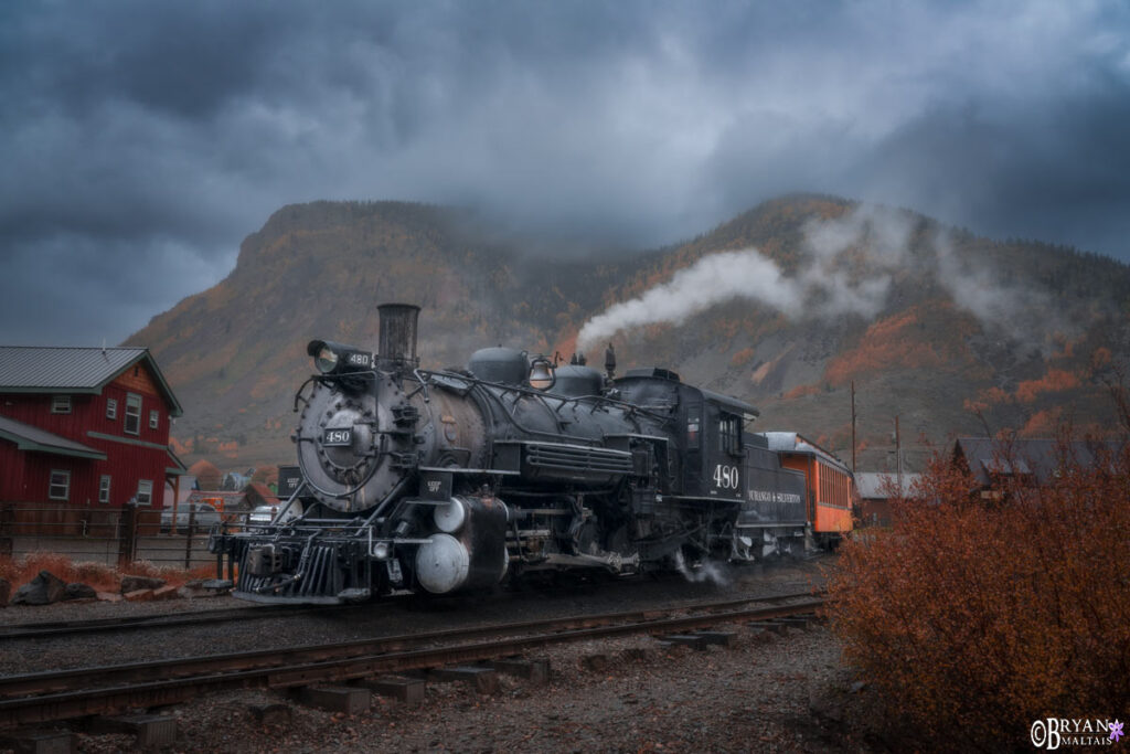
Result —
M1046 311L1049 296L1001 283L988 266L960 259L947 233L916 234L920 222L910 213L875 205L809 220L801 229L802 260L793 275L754 248L703 257L669 281L590 319L577 336L577 348L588 350L620 330L681 324L733 300L766 306L790 320L871 320L887 305L898 274L929 274L986 330L1031 339L1017 323L1031 321L1026 314Z

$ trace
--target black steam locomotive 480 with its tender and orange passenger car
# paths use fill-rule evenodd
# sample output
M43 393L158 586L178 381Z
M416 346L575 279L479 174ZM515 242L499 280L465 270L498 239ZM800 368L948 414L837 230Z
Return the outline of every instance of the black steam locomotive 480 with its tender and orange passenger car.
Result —
M419 367L419 307L379 352L314 340L295 396L302 480L269 525L219 530L235 596L332 604L504 578L754 561L851 527L847 469L662 369L615 376L496 347ZM577 363L579 362L579 363ZM223 560L220 561L223 562Z

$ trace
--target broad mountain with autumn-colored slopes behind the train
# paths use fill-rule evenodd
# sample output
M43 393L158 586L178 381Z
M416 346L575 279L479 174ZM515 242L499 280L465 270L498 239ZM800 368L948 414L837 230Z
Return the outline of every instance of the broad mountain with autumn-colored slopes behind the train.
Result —
M1111 259L816 196L660 250L529 251L544 245L447 207L284 207L225 280L127 344L153 349L185 407L177 450L220 467L290 462L306 343L375 348L376 306L392 301L423 307L432 367L497 344L568 357L607 312L593 363L608 339L621 372L668 366L758 406L759 428L798 430L844 458L854 382L860 468L890 460L895 416L911 466L924 441L985 426L1113 430L1096 374L1130 354L1130 269ZM621 312L643 323L616 330Z

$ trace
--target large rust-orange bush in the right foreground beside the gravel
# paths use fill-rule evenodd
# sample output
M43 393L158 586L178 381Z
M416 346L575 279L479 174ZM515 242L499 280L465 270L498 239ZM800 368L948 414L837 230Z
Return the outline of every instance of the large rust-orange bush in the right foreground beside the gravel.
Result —
M1124 719L1130 449L1109 449L1084 465L1062 441L1054 483L1000 495L938 457L890 531L845 544L834 631L899 740L1011 749L1037 719Z

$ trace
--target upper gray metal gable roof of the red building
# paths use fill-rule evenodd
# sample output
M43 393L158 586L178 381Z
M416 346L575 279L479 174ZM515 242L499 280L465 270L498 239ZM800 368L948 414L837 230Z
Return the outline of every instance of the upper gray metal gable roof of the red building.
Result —
M79 348L0 346L0 392L98 393L119 374L146 362L172 404L173 416L183 411L148 348Z

